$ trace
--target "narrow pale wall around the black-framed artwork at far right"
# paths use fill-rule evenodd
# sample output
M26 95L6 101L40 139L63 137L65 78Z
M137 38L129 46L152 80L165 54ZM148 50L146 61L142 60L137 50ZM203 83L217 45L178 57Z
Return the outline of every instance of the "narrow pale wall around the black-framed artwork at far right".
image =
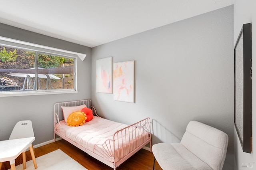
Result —
M234 45L240 33L243 24L252 23L252 75L256 75L256 1L255 0L235 0L234 2ZM256 170L256 77L252 78L252 154L242 151L240 141L236 131L234 131L234 150L235 150L235 168L243 170L242 166L252 163L253 168Z

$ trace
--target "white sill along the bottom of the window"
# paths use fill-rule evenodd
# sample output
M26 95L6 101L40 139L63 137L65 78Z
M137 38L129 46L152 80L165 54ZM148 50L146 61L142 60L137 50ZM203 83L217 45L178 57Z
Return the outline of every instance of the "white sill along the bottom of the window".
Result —
M0 94L0 97L14 97L14 96L33 96L33 95L55 95L55 94L67 94L78 93L78 91L26 91L26 92L4 92Z

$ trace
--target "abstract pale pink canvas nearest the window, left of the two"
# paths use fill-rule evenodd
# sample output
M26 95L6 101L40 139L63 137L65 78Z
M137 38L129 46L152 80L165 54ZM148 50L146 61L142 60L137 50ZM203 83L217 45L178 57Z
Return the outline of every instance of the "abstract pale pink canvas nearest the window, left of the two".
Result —
M112 57L96 59L96 93L112 93Z

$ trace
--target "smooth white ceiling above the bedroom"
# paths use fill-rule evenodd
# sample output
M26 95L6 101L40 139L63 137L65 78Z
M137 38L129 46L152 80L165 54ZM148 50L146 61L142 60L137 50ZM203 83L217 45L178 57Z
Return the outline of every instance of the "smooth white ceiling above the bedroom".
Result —
M2 1L2 2L1 2ZM0 0L0 22L95 47L234 0Z

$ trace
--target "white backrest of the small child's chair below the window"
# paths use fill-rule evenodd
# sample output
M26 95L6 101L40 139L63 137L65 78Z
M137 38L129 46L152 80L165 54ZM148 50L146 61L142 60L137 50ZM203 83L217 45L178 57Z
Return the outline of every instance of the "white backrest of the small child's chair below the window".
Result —
M31 121L19 121L14 126L9 140L18 138L34 137L34 131Z

